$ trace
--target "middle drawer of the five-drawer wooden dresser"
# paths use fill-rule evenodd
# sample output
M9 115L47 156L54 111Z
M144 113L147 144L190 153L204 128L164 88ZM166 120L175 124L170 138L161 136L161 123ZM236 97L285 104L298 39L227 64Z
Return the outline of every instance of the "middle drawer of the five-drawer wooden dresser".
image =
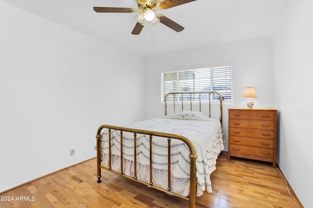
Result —
M229 134L232 136L246 136L256 137L263 139L274 139L274 131L272 130L261 130L261 129L245 129L245 128L229 128Z

